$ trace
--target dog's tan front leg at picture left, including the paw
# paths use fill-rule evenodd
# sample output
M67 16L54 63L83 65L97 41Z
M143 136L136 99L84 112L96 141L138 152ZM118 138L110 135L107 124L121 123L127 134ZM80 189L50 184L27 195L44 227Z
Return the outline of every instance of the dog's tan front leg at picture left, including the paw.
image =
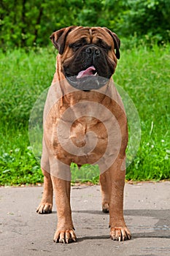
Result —
M58 225L53 241L67 243L76 241L70 206L70 181L51 176L57 206Z

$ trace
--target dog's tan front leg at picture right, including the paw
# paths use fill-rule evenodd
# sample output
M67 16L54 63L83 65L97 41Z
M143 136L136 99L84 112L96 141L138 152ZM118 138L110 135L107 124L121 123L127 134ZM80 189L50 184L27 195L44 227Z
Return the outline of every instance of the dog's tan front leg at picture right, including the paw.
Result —
M113 240L124 241L131 239L131 233L125 225L123 217L123 190L125 185L125 170L121 170L122 159L117 159L110 167L111 195L109 202L110 237Z

